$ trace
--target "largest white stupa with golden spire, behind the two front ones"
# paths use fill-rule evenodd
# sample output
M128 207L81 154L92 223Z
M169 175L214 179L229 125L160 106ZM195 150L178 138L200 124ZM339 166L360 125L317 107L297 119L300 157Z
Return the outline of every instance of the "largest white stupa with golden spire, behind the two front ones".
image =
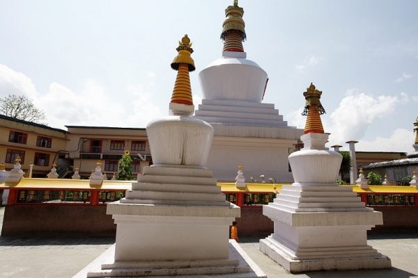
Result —
M244 10L235 0L225 14L222 58L199 73L203 101L195 117L215 130L208 167L219 180L233 180L241 164L247 177L293 181L287 157L303 131L288 126L274 104L262 103L268 75L242 47Z

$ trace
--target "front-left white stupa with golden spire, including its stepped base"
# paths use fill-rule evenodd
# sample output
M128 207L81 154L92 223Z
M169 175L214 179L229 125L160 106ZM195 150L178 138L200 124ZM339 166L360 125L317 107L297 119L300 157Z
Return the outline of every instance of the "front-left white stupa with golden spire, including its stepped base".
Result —
M265 277L229 241L240 208L226 202L205 167L213 129L190 117L194 61L187 35L177 51L171 115L146 127L153 165L144 167L124 199L107 205L117 224L116 243L76 277Z

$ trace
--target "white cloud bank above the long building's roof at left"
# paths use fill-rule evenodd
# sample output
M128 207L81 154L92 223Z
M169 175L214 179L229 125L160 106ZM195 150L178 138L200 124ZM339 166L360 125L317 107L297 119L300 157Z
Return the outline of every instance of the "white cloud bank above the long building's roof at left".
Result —
M61 129L64 125L145 127L161 115L151 89L145 89L153 88L155 76L152 72L147 76L150 82L146 85L126 85L116 99L111 99L110 93L92 79L87 79L79 92L56 82L47 92L38 92L27 76L0 64L0 92L33 98L33 103L45 111L48 125Z

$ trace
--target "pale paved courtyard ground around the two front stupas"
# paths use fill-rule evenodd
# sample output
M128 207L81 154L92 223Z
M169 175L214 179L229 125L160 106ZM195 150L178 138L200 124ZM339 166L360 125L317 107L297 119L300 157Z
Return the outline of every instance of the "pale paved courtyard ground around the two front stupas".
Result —
M4 208L0 208L0 224ZM1 228L1 227L0 227ZM369 236L369 244L392 259L389 270L307 272L292 275L258 251L259 238L240 238L240 246L268 277L407 278L418 277L418 231ZM0 277L72 277L102 254L114 238L0 237Z

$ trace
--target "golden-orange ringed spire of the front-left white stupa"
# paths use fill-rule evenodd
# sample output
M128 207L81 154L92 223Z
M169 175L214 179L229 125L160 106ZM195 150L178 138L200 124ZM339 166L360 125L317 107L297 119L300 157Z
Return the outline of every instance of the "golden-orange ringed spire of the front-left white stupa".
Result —
M193 105L192 87L190 86L189 72L193 72L194 60L190 56L193 53L192 43L185 35L176 48L178 55L171 63L171 68L177 70L176 83L174 84L171 103Z

